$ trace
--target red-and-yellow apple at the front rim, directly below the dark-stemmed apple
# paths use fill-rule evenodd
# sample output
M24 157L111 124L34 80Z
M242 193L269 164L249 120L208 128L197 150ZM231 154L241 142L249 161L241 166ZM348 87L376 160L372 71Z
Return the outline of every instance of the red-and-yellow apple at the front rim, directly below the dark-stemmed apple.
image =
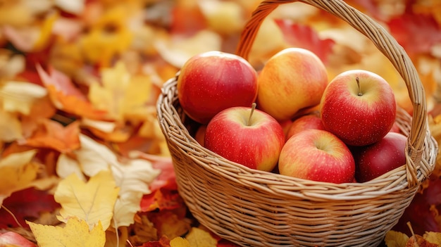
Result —
M354 182L355 164L349 148L335 134L306 129L288 139L280 151L281 175L335 184Z

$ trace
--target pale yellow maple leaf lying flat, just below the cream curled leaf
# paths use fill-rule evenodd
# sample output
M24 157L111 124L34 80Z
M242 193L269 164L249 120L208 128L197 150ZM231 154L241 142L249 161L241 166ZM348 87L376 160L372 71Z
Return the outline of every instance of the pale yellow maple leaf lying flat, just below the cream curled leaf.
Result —
M63 179L55 191L54 198L61 204L58 220L66 222L70 217L85 220L89 227L101 222L104 229L110 225L113 206L119 188L108 170L102 170L87 183L73 174Z

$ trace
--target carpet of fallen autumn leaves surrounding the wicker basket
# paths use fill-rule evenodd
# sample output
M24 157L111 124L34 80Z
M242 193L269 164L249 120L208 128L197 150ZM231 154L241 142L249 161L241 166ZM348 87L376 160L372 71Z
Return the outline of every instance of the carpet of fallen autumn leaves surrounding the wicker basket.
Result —
M440 143L441 2L347 3L409 53ZM187 211L155 104L194 54L234 53L257 4L0 0L0 246L235 246ZM347 23L285 4L261 26L249 61L259 68L288 46L316 53L330 77L352 68L382 75L412 113L395 68ZM441 244L440 164L387 246Z

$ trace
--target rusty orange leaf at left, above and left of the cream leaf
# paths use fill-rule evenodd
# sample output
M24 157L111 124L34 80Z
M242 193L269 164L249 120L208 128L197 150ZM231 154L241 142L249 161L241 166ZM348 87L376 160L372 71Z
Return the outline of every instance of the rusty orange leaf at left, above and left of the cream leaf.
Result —
M19 141L19 144L36 148L53 148L61 153L69 153L80 148L80 124L75 121L63 127L60 123L42 119L32 136Z

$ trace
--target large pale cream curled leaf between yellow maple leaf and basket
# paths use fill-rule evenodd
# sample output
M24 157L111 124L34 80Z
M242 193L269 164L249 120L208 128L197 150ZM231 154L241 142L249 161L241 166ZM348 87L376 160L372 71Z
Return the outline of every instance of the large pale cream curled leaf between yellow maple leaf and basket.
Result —
M101 170L111 170L116 186L120 188L114 207L114 224L118 227L132 224L142 196L151 193L149 184L159 175L160 170L154 169L151 162L144 159L120 162L113 151L85 135L80 135L80 143L81 148L74 152L75 160L61 156L62 162L58 163L57 170L76 171L89 177Z

